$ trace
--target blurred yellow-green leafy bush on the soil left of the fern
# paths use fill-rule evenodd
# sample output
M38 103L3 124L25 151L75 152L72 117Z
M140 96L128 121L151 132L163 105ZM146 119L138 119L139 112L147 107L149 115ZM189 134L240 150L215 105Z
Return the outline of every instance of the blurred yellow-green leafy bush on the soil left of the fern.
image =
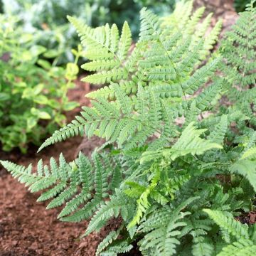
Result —
M51 66L40 57L46 48L35 45L32 34L23 33L15 19L0 19L0 141L6 151L18 146L25 152L29 142L40 144L65 124L63 111L78 106L67 97L78 67ZM75 62L80 52L76 55Z

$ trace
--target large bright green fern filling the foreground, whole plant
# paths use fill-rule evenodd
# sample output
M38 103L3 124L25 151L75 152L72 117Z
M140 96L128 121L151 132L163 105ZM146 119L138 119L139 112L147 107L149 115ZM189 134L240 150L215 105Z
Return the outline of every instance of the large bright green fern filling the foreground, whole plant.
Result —
M119 36L115 25L90 28L69 17L91 60L82 68L95 72L85 81L105 87L39 150L78 134L106 143L92 161L80 154L68 164L60 155L50 167L40 161L36 173L1 161L32 192L43 190L38 201L52 198L48 208L64 205L60 220L92 217L85 235L122 219L96 255L128 252L134 242L142 255L256 252L255 225L235 220L255 208L256 133L242 110L219 105L232 91L213 76L225 71L220 53L210 53L221 22L209 32L210 15L192 14L192 4L161 19L142 9L134 47L127 23ZM238 24L254 13L247 6Z

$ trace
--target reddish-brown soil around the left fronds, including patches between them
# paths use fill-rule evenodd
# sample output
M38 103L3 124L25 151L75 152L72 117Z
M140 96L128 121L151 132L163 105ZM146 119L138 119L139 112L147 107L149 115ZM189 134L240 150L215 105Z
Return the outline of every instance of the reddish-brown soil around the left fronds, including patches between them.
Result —
M90 85L77 82L77 87L69 92L70 99L88 105L84 95L91 89ZM80 108L68 113L68 119L73 119L79 111ZM36 164L39 159L47 163L49 156L57 159L63 152L67 160L71 161L81 142L81 137L68 139L49 146L39 154L35 153L36 146L31 146L26 155L18 150L8 154L0 151L0 159L27 166ZM84 152L89 153L92 148L90 145ZM38 194L29 193L0 166L0 256L95 255L98 242L110 227L100 234L92 233L87 238L79 239L87 222L62 223L56 219L59 210L46 210L46 203L36 203L37 197Z

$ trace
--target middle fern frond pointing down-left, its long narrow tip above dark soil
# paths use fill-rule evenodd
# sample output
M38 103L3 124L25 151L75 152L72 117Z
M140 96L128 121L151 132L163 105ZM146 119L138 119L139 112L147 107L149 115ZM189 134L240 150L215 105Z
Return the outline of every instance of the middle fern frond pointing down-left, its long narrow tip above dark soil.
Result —
M112 88L117 98L117 105L110 104L103 98L92 101L93 107L82 107L82 117L76 117L76 120L71 124L60 129L60 131L56 131L52 137L43 143L38 151L68 137L84 133L87 137L92 137L95 132L98 136L110 140L110 142L117 141L119 147L124 144L127 150L138 144L143 144L159 127L161 121L161 102L159 102L159 98L156 97L154 92L149 92L149 100L146 102L146 119L142 116L134 117L132 115L134 102L131 98L118 85L112 84ZM144 93L147 94L148 92Z

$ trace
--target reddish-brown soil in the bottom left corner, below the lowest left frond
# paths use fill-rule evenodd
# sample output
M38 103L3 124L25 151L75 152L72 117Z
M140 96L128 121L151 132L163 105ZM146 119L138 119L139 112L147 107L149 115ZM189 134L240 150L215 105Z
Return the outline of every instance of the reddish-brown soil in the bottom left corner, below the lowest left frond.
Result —
M11 176L0 177L0 255L95 255L100 234L78 239L86 222L62 223Z

